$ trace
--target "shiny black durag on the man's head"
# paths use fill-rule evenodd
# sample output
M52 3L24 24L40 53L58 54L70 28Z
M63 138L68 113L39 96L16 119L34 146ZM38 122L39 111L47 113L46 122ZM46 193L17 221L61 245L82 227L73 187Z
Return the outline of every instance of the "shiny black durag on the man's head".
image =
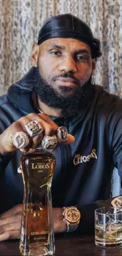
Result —
M46 20L39 31L38 44L53 38L78 39L91 47L92 58L102 56L100 41L94 38L91 28L83 20L70 13Z

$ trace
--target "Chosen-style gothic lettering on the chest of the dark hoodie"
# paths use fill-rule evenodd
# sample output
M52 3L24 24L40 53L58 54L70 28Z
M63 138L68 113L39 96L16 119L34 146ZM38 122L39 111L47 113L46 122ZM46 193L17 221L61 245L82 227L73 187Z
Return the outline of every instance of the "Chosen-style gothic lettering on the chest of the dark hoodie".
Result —
M91 154L88 154L87 156L85 156L85 155L82 156L81 154L76 154L74 159L73 159L73 164L74 165L79 165L79 164L82 164L84 162L90 161L91 158L97 159L97 154L96 154L95 149L93 149L91 151Z

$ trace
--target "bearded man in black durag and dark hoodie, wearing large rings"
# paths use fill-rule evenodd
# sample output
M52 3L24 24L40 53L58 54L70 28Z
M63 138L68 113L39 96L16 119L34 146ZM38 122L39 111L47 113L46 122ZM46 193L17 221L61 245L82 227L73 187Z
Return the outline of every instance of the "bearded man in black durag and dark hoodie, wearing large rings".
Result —
M1 97L1 241L20 237L20 154L39 144L48 147L55 135L54 232L93 232L94 210L121 202L110 191L114 166L122 176L122 100L92 84L101 55L99 40L83 20L51 17L33 46L33 67ZM41 132L31 135L31 125ZM75 223L68 220L72 213L79 217Z

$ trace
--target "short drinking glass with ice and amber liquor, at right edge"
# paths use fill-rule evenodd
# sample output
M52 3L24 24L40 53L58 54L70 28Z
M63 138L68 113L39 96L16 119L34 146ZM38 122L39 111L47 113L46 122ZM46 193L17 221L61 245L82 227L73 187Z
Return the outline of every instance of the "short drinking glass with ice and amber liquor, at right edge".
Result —
M95 244L99 247L122 246L122 209L102 207L94 211Z

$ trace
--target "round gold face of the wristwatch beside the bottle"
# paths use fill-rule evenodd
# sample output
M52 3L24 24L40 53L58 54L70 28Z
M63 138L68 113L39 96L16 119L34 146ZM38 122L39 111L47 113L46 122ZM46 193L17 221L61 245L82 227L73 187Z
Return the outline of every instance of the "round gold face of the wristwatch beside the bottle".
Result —
M80 219L79 210L76 207L69 207L65 209L65 219L71 223L77 223Z

